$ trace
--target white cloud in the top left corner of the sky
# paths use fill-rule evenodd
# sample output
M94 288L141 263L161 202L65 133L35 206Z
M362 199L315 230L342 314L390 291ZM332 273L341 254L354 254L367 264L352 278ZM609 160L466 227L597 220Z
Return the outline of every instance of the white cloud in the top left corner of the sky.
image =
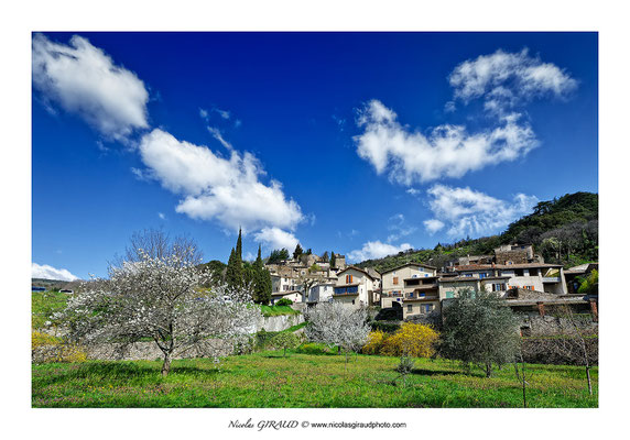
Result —
M76 113L106 138L124 141L149 127L149 92L134 73L74 35L68 45L33 38L33 85L44 98Z

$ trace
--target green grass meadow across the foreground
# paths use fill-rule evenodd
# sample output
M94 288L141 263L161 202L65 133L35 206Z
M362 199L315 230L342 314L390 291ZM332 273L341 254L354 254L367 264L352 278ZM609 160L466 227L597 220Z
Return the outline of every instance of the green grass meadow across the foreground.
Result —
M521 383L511 365L486 378L466 375L455 362L419 360L406 386L385 356L316 355L264 351L226 359L161 362L41 364L32 370L33 407L522 407ZM530 377L531 374L531 377ZM583 369L528 365L529 407L597 407Z

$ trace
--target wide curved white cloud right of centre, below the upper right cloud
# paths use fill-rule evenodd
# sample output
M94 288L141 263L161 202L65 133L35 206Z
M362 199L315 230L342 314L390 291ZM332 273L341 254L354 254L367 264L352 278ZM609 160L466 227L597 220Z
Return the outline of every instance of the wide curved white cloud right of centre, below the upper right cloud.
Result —
M528 123L513 113L492 130L468 133L461 125L439 125L428 135L412 132L380 101L370 101L358 119L363 133L354 138L357 153L377 174L385 170L392 182L461 177L501 162L514 161L537 145Z

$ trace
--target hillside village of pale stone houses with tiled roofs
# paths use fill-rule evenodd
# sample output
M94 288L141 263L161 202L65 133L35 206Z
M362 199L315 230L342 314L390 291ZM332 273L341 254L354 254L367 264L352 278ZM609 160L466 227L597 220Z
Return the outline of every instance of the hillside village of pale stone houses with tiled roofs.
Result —
M544 316L545 306L571 305L597 319L597 289L578 293L578 277L597 270L597 263L564 270L548 264L532 244L508 244L491 255L468 255L443 267L405 263L382 273L347 265L335 254L335 264L303 254L267 264L272 279L271 302L282 298L306 307L339 301L349 307L392 309L400 319L422 320L441 315L442 307L463 289L495 292L514 310ZM579 278L582 279L582 278Z

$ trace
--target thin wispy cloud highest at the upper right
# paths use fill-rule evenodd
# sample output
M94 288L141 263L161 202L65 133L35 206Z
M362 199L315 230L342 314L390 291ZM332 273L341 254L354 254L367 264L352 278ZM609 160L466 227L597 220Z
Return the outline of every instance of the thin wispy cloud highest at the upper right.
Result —
M459 64L448 77L455 99L468 103L481 98L486 110L502 113L534 98L566 97L577 81L565 70L540 57L501 50Z

